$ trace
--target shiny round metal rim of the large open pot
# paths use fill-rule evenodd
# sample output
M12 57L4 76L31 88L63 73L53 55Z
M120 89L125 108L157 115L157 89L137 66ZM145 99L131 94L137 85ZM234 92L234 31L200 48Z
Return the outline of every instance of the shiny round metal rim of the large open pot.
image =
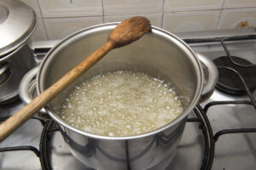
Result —
M61 42L58 42L55 45L54 48L51 48L49 53L46 54L46 56L44 57L42 63L39 66L39 69L38 69L38 75L37 75L37 91L38 91L38 94L41 94L42 91L43 91L42 87L40 87L40 79L41 79L41 76L42 76L42 71L43 71L43 68L44 68L44 64L52 56L52 54L55 52L55 50L60 48L63 43L67 42L67 40L70 40L73 37L79 36L79 34L84 32L84 31L91 31L93 29L101 28L102 26L117 26L118 24L119 24L119 22L113 22L113 23L105 23L105 24L101 24L101 25L90 26L90 27L84 28L83 30L77 31L77 32L73 33L72 35L64 38L63 40L61 40ZM195 89L195 95L189 101L189 105L183 111L182 114L177 116L177 118L175 118L172 122L169 122L165 126L159 127L157 129L155 129L154 131L150 131L148 133L142 133L142 134L138 134L138 135L122 136L122 137L102 136L102 135L93 134L93 133L86 133L83 130L80 130L79 128L72 127L71 125L69 125L67 122L62 120L60 116L57 116L53 111L51 111L51 109L49 108L48 105L46 105L44 108L48 112L49 116L51 116L51 118L53 118L55 120L55 122L61 124L61 126L67 127L68 129L74 131L75 133L79 133L81 135L88 136L88 137L93 138L93 139L108 139L108 140L127 140L127 139L139 139L139 138L148 137L148 136L154 135L156 133L160 133L160 132L166 130L167 128L176 125L178 122L183 121L183 119L186 119L187 116L189 115L190 111L192 111L195 108L195 105L198 104L199 100L201 99L201 94L202 94L203 84L204 84L204 76L203 76L203 70L202 70L202 67L201 67L201 61L200 61L200 59L198 59L197 55L192 50L192 48L190 48L185 42L183 42L183 40L176 37L171 32L165 31L165 30L163 30L159 27L156 27L156 26L152 26L152 30L160 31L161 33L165 34L167 37L175 38L178 42L182 43L183 48L187 48L189 50L189 53L191 54L191 56L194 59L193 60L194 64L197 65L197 67L198 67L197 72L200 75L200 78L197 80L198 85L196 86L196 89Z

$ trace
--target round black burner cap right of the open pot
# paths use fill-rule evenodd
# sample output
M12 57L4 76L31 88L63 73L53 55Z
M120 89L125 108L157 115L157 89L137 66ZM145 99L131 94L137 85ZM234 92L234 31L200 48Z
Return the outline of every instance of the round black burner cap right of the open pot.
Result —
M232 56L232 59L236 61L236 63L242 65L251 65L252 63L246 59L242 59L240 57ZM247 87L253 92L256 88L256 68L244 68L241 66L234 65L229 57L222 56L217 59L214 59L213 62L217 66L227 66L241 74L241 77L244 78L247 83ZM246 89L244 88L240 78L236 75L235 72L229 71L227 69L218 69L218 82L216 88L219 90L228 93L228 94L237 94L243 95L247 94Z

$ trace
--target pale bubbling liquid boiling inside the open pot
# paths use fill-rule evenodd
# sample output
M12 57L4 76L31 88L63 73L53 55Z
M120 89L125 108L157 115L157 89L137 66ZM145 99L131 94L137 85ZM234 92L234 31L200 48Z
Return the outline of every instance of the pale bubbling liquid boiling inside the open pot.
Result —
M162 127L182 112L169 83L142 72L114 71L76 86L63 101L61 117L87 133L131 136Z

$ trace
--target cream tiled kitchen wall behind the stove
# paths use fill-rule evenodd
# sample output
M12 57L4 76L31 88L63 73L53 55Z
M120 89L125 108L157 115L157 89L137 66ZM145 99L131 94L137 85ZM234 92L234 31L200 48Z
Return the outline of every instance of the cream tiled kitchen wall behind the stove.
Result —
M256 26L256 0L22 0L37 14L33 40L61 39L97 24L146 16L167 31Z

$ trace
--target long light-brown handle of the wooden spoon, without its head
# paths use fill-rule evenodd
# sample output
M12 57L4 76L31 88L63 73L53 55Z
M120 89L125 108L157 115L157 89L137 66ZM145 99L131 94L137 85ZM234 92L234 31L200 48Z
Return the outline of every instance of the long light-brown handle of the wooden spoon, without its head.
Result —
M20 111L17 111L14 116L9 117L8 120L0 125L0 142L3 141L10 133L14 132L16 128L26 122L35 112L39 111L44 105L47 105L51 99L59 94L64 88L67 88L74 80L81 76L84 71L88 70L91 65L94 65L99 59L107 54L114 47L113 42L106 42L101 48L98 48L93 54L84 59L73 70L67 72L64 77L58 82L55 82L51 87L45 90L38 97L33 99L29 104L25 105Z

